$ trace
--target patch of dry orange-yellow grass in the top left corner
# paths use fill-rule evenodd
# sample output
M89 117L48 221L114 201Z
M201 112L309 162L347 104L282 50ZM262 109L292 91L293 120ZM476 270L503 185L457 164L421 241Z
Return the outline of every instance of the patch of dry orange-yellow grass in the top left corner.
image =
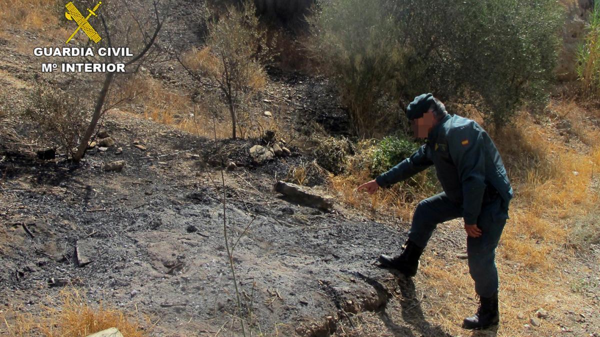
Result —
M2 26L18 25L23 29L44 29L58 23L56 2L43 0L0 0Z

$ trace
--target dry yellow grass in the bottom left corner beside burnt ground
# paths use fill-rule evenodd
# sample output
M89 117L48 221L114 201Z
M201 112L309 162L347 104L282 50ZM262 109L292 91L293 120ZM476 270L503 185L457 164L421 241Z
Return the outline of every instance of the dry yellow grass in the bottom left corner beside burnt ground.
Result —
M61 291L56 299L50 299L50 305L42 305L41 311L33 314L18 310L0 312L0 321L4 322L8 336L87 336L91 333L116 327L124 336L142 337L147 333L142 322L134 315L128 315L118 309L89 304L78 290ZM149 321L143 322L146 326Z

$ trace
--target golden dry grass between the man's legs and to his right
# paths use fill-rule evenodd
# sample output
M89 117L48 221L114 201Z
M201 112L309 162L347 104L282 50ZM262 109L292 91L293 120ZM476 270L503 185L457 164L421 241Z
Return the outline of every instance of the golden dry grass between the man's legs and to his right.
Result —
M572 103L560 103L556 108L571 111L573 118L584 117L584 112ZM535 124L529 116L521 115L516 128L497 137L516 192L511 219L497 252L502 336L527 334L523 324L538 308L552 311L580 305L569 293L565 286L569 280L558 267L572 260L565 245L573 230L569 219L584 215L598 204L598 194L590 193L589 185L593 171L600 166L600 149L571 148L549 126ZM587 128L586 134L600 136L593 128ZM439 293L460 291L457 298L473 294L464 262L431 258L423 271L426 284ZM436 320L455 334L461 332L458 323L463 315L476 305L474 301L457 304L439 299L432 306ZM518 319L518 314L526 319ZM554 324L543 324L536 330L542 335L559 332Z

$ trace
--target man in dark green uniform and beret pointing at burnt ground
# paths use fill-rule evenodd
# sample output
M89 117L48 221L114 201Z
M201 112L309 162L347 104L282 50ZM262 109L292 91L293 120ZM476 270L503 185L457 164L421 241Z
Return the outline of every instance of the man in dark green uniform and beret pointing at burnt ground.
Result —
M379 187L407 179L433 165L443 192L418 204L401 254L382 254L379 262L383 267L414 276L437 224L463 218L469 273L480 300L478 311L464 319L463 327L493 326L499 322L496 246L513 195L502 158L479 124L448 115L445 106L431 94L416 97L406 114L415 137L427 138L427 142L409 158L358 189L372 194Z

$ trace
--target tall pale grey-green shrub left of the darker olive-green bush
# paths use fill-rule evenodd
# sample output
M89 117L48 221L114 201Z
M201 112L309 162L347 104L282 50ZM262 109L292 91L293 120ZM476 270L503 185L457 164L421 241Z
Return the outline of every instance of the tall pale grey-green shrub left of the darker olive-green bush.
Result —
M320 68L337 84L353 133L367 138L390 121L381 98L395 91L404 78L401 67L407 64L406 49L397 41L400 26L382 4L327 2L311 19L313 37L308 42Z

